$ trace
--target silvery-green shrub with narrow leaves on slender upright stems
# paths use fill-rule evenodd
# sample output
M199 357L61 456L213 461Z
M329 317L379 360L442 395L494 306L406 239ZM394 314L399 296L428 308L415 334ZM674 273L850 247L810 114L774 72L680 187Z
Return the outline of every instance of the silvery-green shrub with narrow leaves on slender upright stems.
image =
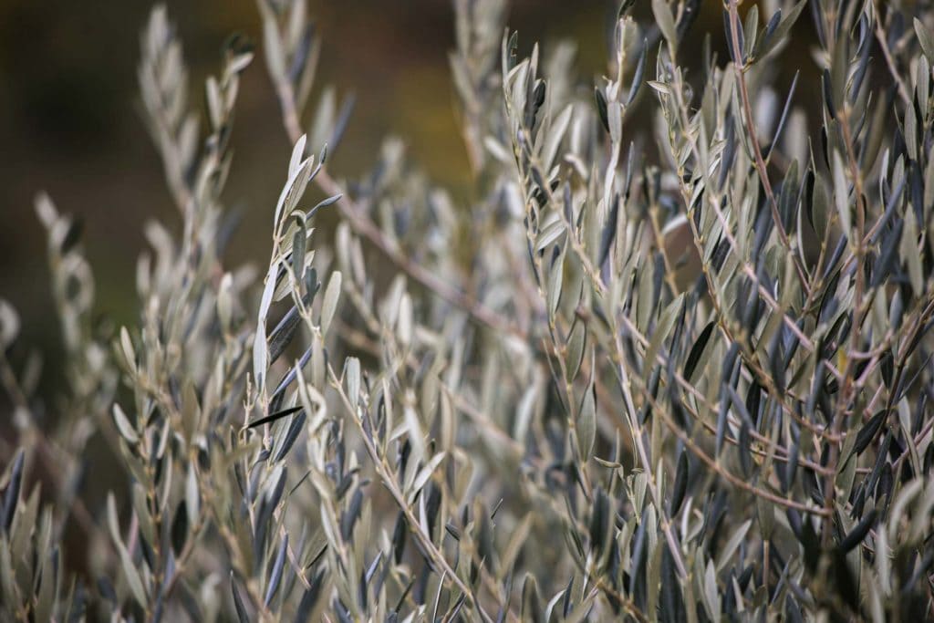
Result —
M590 94L569 47L520 58L501 0L455 3L456 206L395 142L331 176L349 107L309 121L304 0L262 0L294 147L258 279L220 198L253 50L229 40L202 133L156 8L139 81L180 227L146 227L138 325L92 323L47 197L63 395L14 369L0 305L2 616L934 616L934 14L813 0L809 97L771 86L803 0L728 0L694 58L699 0L633 4ZM100 508L92 442L126 483Z

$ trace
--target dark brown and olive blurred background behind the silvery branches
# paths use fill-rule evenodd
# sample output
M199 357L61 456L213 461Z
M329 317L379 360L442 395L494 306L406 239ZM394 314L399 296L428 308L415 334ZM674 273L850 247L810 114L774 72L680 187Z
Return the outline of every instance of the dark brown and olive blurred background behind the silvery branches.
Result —
M0 0L0 292L20 311L23 339L46 355L44 382L56 384L59 348L51 310L43 232L33 200L49 191L82 221L92 263L97 311L116 324L135 321L134 266L150 218L175 222L162 166L139 114L136 65L149 0ZM232 32L261 36L252 0L168 0L191 67L194 91L219 62ZM616 0L514 0L508 23L526 46L547 50L560 40L576 47L577 69L596 77L605 68ZM647 2L636 16L650 20ZM746 8L752 3L745 3ZM704 32L718 32L720 3L702 5L686 46L700 59ZM446 0L349 0L311 3L323 37L312 101L333 85L356 106L330 169L352 178L375 163L382 142L403 138L409 160L432 182L468 199L470 173L461 141L447 53L454 47L453 7ZM810 39L811 21L797 30ZM720 40L722 37L715 37ZM525 53L523 51L523 53ZM719 50L725 58L726 50ZM782 55L776 85L795 67L814 77L806 47ZM691 54L684 55L686 59ZM811 79L808 79L811 78ZM592 83L579 85L586 92ZM807 97L807 90L801 97ZM648 120L646 119L646 122ZM640 125L637 120L635 127ZM229 251L232 265L262 258L268 213L282 184L290 149L261 64L243 77L233 131L233 169L226 197L242 221ZM17 356L16 349L13 352ZM51 388L49 388L51 389Z

